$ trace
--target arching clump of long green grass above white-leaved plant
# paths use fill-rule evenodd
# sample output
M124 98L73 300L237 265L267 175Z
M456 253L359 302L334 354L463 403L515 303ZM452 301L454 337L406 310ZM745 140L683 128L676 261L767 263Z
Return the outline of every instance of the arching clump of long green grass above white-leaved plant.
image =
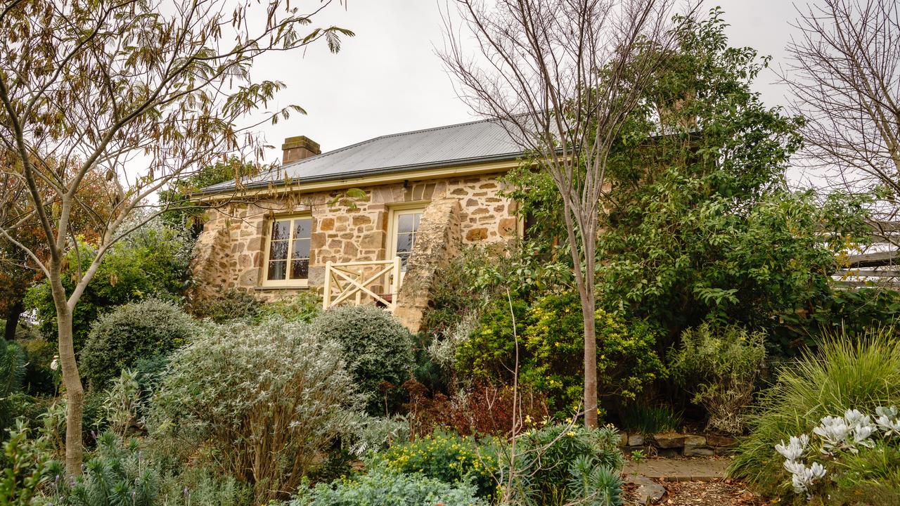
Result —
M824 416L849 409L874 412L900 404L900 342L891 328L860 339L836 335L785 366L761 395L750 437L738 447L729 474L775 493L784 477L775 445L810 432Z

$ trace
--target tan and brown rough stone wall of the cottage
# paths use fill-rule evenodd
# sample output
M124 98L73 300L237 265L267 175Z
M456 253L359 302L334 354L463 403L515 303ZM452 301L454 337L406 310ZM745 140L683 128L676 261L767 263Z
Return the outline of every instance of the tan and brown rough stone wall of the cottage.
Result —
M271 220L289 213L308 212L312 217L309 284L313 288L323 284L329 260L371 261L386 257L390 250L388 217L393 204L424 205L454 199L460 206L459 240L463 244L513 239L518 234L515 203L500 196L498 176L362 187L365 198L358 200L347 199L342 192L318 192L229 203L212 209L194 251L194 277L202 281L198 281L193 297L216 296L229 289L246 290L264 300L295 294L296 287L261 285Z

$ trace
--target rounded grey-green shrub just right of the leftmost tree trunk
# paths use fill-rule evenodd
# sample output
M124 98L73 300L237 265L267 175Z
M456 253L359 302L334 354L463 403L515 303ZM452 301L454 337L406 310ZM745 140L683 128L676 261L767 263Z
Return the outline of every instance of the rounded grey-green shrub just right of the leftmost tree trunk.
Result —
M128 303L94 323L81 352L81 372L93 389L102 389L122 368L142 357L166 355L194 332L191 317L174 303L148 299Z

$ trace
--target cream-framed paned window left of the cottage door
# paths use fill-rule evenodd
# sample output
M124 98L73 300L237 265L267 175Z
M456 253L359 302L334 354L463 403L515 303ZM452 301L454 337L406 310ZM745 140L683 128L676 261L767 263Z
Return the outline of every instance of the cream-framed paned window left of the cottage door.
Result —
M305 280L310 276L311 231L311 218L272 222L272 239L269 239L266 268L267 281Z

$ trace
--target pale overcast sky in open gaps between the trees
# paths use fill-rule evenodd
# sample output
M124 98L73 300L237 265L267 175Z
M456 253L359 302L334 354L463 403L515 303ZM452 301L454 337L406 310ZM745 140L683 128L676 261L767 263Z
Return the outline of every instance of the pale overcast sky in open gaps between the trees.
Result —
M338 54L320 45L259 60L254 78L284 81L280 105L298 104L308 113L264 128L267 142L276 147L267 158L279 158L282 141L293 135L305 135L328 151L379 135L478 119L456 97L435 55L443 40L438 1L347 0L346 8L335 2L314 24L356 32ZM716 5L731 25L733 46L752 46L772 56L776 67L783 61L796 14L790 1L707 1L705 9ZM785 102L777 79L770 71L757 80L766 104Z

